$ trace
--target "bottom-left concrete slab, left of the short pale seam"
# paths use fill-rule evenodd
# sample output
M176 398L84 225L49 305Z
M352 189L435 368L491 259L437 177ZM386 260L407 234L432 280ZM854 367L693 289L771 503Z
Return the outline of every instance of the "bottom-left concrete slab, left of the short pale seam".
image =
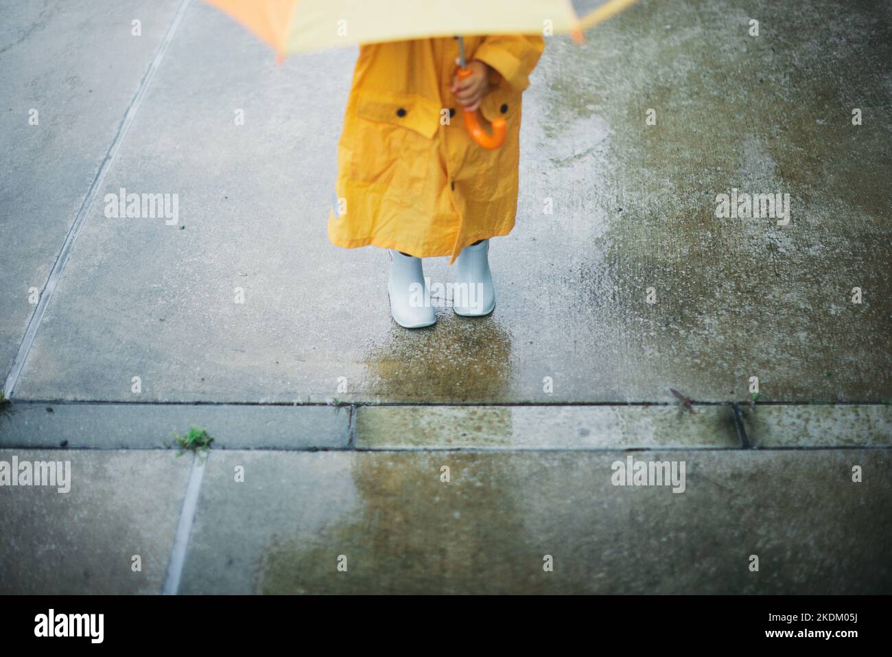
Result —
M13 456L68 461L71 483L0 486L0 593L161 593L191 455L0 450Z

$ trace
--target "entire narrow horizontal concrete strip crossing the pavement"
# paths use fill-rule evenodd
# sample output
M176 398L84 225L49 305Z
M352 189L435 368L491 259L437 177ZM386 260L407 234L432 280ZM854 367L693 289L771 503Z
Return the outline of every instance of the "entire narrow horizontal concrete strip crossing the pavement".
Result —
M886 404L281 405L19 402L0 448L170 449L205 428L214 449L641 450L888 448Z

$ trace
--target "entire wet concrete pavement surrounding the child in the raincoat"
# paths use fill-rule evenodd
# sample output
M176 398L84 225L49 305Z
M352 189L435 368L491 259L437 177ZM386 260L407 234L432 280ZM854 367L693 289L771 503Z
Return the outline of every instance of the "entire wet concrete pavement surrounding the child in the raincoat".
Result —
M442 309L415 332L389 316L386 256L326 238L355 50L277 66L194 0L0 0L0 15L0 375L16 409L0 447L103 450L69 452L84 487L118 477L96 470L107 459L161 468L142 450L190 424L217 449L277 450L211 455L183 590L892 590L888 3L641 0L582 46L550 38L524 95L517 226L491 245L496 310ZM121 188L178 195L177 222L106 217ZM789 223L717 218L732 189L789 194ZM451 280L445 259L425 270ZM681 411L670 387L711 404ZM676 450L704 478L684 495L611 487L628 449ZM473 475L445 505L442 454ZM65 578L9 571L6 590L160 591L184 459L157 492L160 543L143 541L151 577L104 586L87 568L87 583L57 545L41 559ZM242 462L273 474L227 489ZM858 463L871 476L844 484ZM133 511L78 495L35 495L6 527L37 546L72 512L91 528ZM801 500L790 522L766 501L785 495ZM243 525L214 553L227 513ZM69 555L113 544L69 540ZM749 577L739 545L781 570ZM337 581L331 553L355 577Z

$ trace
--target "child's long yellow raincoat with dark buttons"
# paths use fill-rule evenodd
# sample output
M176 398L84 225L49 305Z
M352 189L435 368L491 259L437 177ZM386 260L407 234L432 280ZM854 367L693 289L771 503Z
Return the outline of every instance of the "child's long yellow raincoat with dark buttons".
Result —
M505 143L487 151L467 134L450 88L458 39L360 46L338 143L338 204L328 236L450 263L477 240L508 235L517 209L521 93L545 47L541 37L466 37L467 62L495 71L483 126L503 117Z

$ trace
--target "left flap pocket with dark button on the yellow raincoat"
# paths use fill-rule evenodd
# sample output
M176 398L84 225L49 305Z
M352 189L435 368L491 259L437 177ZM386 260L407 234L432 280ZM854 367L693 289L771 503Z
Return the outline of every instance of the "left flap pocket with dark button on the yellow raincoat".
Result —
M351 179L404 200L424 190L426 161L435 158L440 107L420 96L367 94L357 104Z

